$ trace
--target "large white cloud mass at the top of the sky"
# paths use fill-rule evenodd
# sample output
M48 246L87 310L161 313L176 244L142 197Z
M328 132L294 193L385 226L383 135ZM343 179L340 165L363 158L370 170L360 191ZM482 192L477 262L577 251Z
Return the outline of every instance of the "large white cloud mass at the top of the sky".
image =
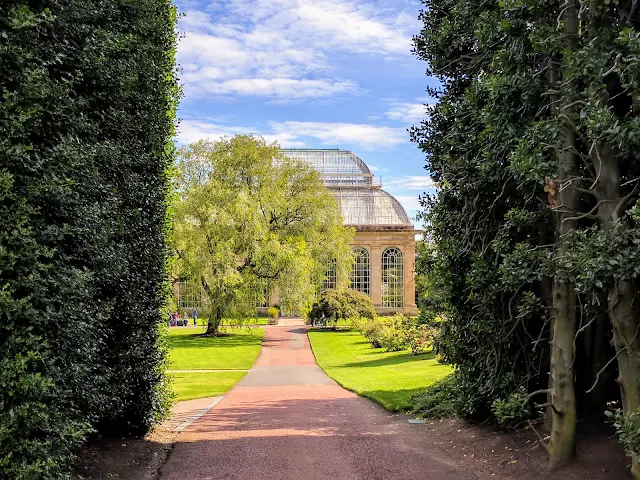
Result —
M368 0L215 0L180 20L185 93L326 98L354 93L334 52L402 56L417 20Z

